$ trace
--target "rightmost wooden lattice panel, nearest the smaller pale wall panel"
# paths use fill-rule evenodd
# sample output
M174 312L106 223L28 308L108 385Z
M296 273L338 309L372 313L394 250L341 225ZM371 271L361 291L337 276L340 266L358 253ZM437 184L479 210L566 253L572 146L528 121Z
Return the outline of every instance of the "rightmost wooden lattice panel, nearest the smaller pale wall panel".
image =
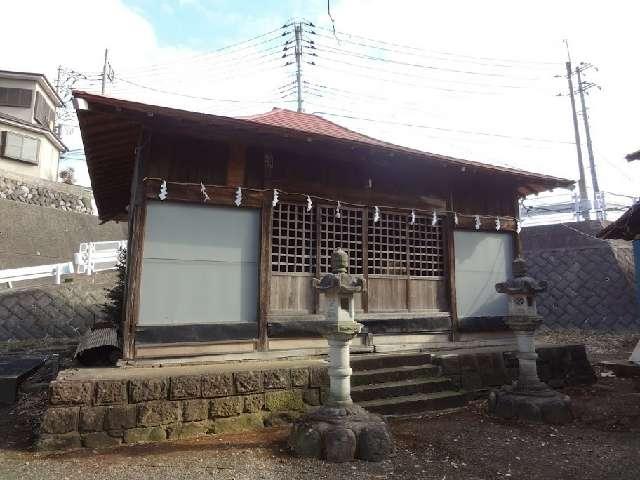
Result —
M415 225L408 225L409 275L440 277L444 275L444 244L442 220L431 225L431 217L416 216Z

